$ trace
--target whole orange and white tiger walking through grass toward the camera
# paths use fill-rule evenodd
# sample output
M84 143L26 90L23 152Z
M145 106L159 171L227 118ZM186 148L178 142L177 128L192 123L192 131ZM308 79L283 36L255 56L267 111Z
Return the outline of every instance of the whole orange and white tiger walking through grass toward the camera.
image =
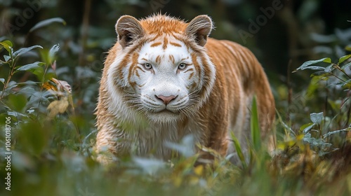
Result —
M208 15L190 22L123 15L115 29L95 110L98 162L118 162L125 155L169 160L178 153L166 144L188 135L195 153L235 154L231 133L248 151L254 96L260 135L273 148L274 97L263 67L248 48L209 37Z

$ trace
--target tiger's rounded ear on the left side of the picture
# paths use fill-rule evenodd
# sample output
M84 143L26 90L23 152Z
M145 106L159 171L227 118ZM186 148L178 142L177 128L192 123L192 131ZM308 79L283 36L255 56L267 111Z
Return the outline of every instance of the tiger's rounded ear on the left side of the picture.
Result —
M131 45L135 38L140 38L145 34L140 22L130 15L124 15L117 20L116 31L119 45L121 45L122 48Z

